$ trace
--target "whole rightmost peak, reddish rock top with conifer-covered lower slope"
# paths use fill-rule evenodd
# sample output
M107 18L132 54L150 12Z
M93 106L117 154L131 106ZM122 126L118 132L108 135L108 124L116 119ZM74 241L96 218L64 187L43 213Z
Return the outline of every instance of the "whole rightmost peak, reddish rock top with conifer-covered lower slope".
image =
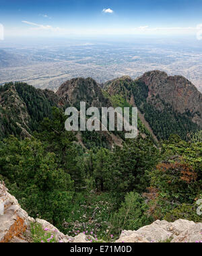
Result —
M104 90L137 106L139 118L154 138L178 134L189 139L202 127L202 94L184 77L151 71L135 80L120 77L106 82Z

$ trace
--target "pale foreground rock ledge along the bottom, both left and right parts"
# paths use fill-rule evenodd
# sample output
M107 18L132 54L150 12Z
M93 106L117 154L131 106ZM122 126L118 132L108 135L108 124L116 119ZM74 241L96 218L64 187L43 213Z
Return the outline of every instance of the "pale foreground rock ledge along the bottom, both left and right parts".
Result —
M75 237L66 236L45 220L30 218L0 181L0 243L33 243L30 232L32 223L38 223L44 230L54 234L58 243L90 243L91 240L95 240L93 236L83 233ZM137 231L123 231L116 243L158 243L168 240L171 243L200 242L202 241L202 223L188 220L170 223L157 220Z

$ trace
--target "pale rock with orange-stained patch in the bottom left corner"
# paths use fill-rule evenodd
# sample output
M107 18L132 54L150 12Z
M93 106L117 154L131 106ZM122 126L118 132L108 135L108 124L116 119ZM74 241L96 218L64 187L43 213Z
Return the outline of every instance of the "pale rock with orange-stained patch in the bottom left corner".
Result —
M66 236L46 220L30 218L0 181L0 243L33 243L30 227L34 222L54 234L58 243L90 243L94 239L83 233Z

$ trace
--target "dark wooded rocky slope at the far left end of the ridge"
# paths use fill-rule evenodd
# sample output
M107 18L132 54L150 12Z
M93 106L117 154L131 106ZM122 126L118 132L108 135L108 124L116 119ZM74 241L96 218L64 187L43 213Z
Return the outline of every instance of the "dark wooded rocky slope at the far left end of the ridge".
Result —
M27 137L38 129L44 117L50 117L52 106L64 102L54 92L39 90L24 83L0 87L0 137L12 134Z

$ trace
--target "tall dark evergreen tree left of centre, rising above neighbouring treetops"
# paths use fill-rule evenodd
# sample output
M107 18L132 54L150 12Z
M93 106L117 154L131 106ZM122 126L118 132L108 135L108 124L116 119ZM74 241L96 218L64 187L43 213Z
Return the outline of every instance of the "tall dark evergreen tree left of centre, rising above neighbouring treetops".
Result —
M83 150L77 146L75 134L65 130L65 117L62 110L53 108L53 118L45 118L40 125L40 133L34 136L44 143L48 152L57 155L57 162L70 174L75 184L75 189L79 190L85 185L85 168L83 163Z

